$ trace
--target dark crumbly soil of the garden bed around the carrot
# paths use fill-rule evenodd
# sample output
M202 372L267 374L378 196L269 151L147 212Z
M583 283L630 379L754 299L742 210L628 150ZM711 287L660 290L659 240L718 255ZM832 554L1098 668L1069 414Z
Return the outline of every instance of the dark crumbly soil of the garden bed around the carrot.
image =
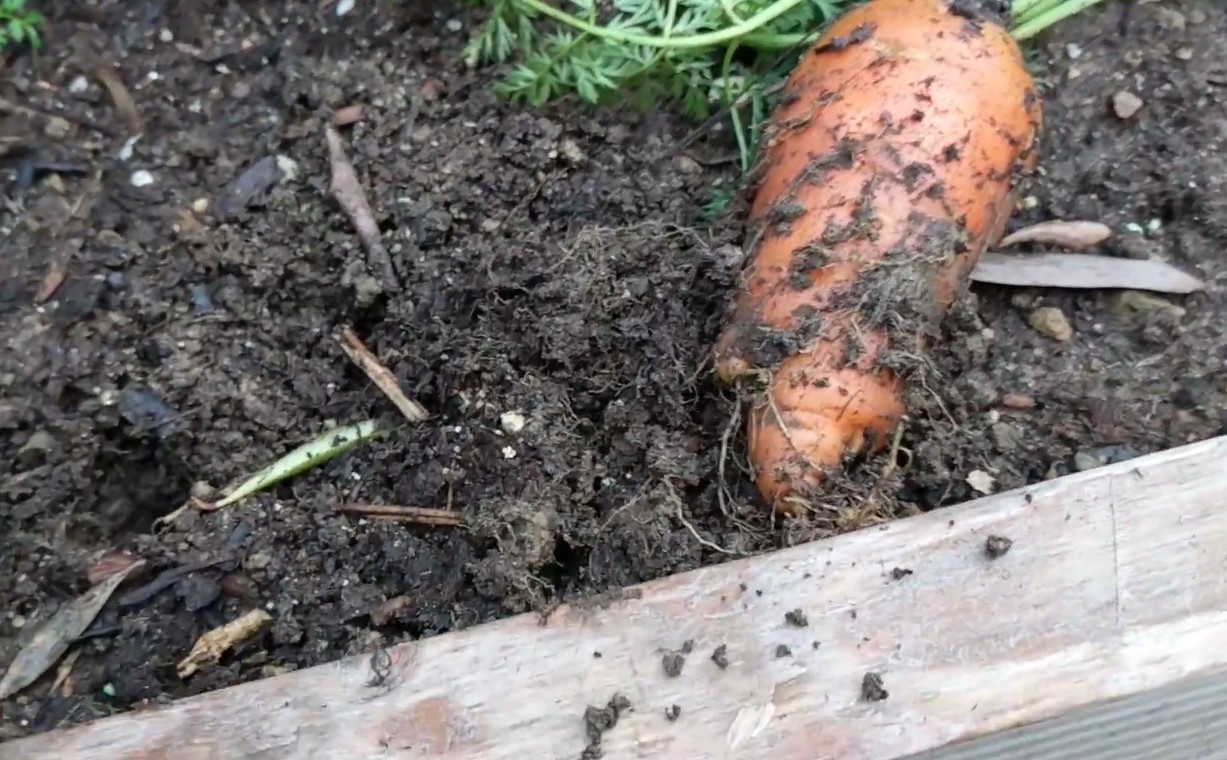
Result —
M906 467L879 483L865 463L848 494L874 498L833 492L773 525L710 377L742 235L703 215L735 182L708 165L728 141L682 147L692 125L664 109L499 102L456 63L475 22L449 4L341 21L296 0L101 5L40 2L45 52L0 63L0 96L32 109L0 111L5 182L59 165L0 210L0 663L102 551L145 559L137 583L207 566L113 600L54 691L53 668L4 702L0 740L957 503L975 470L1005 490L1225 432L1227 10L1137 5L1121 28L1109 4L1045 41L1045 176L1017 219L1102 220L1119 231L1102 252L1163 257L1210 291L977 287L945 322ZM108 60L144 125L126 150L93 76ZM1121 90L1145 103L1129 119ZM355 103L342 135L395 281L329 195L321 118ZM277 156L292 176L215 214ZM1032 329L1038 306L1072 339ZM355 367L345 325L431 420L407 424ZM155 524L363 419L389 433ZM352 501L466 527L337 513ZM201 634L254 607L261 635L178 678Z

